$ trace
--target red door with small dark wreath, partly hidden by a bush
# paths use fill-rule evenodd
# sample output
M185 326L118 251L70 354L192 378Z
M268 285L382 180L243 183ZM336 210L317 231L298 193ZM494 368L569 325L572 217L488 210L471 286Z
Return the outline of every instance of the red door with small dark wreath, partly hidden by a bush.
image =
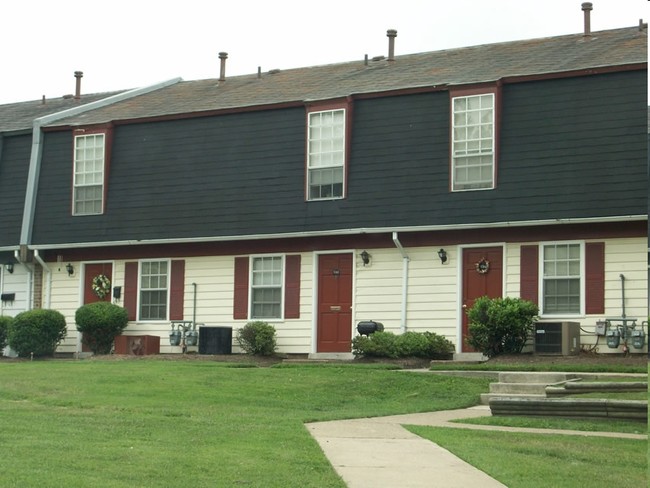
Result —
M463 250L463 352L474 351L465 344L468 335L467 309L483 296L503 296L503 249L500 247Z

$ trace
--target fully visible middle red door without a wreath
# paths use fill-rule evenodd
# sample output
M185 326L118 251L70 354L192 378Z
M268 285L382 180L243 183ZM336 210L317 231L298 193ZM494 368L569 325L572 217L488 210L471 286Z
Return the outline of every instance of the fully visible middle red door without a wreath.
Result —
M352 350L352 254L318 257L317 352Z

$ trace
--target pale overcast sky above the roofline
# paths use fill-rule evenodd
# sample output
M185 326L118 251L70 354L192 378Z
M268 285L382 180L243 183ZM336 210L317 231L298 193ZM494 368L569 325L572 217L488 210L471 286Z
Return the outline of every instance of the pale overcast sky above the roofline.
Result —
M583 30L582 0L31 0L0 6L0 103L136 88ZM592 0L592 31L638 25L647 0Z

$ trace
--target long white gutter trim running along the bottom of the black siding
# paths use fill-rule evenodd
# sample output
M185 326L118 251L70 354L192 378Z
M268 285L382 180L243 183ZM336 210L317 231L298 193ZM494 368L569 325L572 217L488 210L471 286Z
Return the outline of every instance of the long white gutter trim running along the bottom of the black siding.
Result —
M565 224L605 224L613 222L636 222L648 220L647 215L627 215L620 217L593 217L585 219L554 219L554 220L529 220L521 222L490 222L457 225L431 225L414 227L376 227L376 228L350 228L337 230L324 230L315 232L287 232L285 234L250 234L232 235L218 237L188 237L180 239L145 239L145 240L122 240L122 241L101 241L101 242L69 242L61 244L37 244L30 246L30 249L75 249L88 247L114 247L114 246L138 246L145 244L190 244L202 242L229 242L229 241L255 241L260 239L291 239L297 237L328 237L356 234L385 234L393 232L432 232L445 230L472 230L472 229L496 229L506 227L530 227L538 225L565 225Z

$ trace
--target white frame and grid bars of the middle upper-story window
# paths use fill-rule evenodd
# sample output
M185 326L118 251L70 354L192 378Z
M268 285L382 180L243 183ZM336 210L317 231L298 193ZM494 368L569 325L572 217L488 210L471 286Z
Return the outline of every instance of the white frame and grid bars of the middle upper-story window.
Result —
M322 137L322 134L319 134L319 137L316 137L314 131L316 126L312 122L313 117L322 118L325 114L342 114L342 126L340 127L340 135L337 137ZM332 130L336 128L336 125L332 125ZM327 127L325 128L327 129ZM314 110L307 112L307 178L306 178L306 197L308 201L322 201L322 200L340 200L345 198L346 195L346 168L347 168L347 140L346 140L346 131L347 131L347 109L343 107L332 108L327 110ZM334 149L331 146L337 144L340 146L340 149ZM317 144L326 144L330 145L329 150L317 151ZM340 153L340 154L339 154ZM338 157L336 157L338 155ZM317 161L318 157L329 156L333 161L329 161L329 164L322 164ZM334 160L336 159L336 160ZM328 170L332 172L339 170L341 171L341 194L340 195L329 195L329 196L318 196L312 197L311 194L311 182L312 178L316 175L316 172L325 173ZM332 178L333 179L333 178ZM334 183L332 183L334 185ZM326 185L320 185L320 188L324 188Z

